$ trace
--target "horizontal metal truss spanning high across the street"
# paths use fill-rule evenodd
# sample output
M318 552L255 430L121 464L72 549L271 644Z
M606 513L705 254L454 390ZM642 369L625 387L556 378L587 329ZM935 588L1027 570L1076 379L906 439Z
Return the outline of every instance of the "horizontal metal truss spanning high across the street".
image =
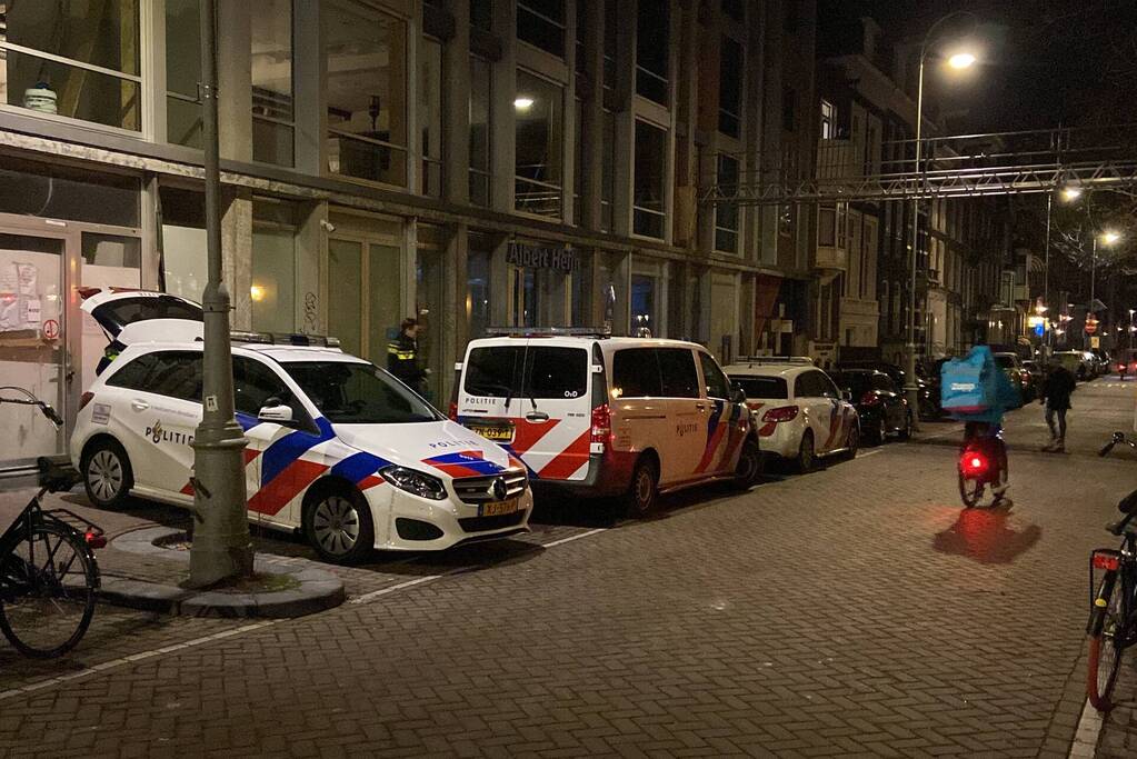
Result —
M812 176L769 156L739 153L732 183L708 177L712 206L973 198L1060 187L1137 191L1137 124L933 136L885 142L879 153L854 137L821 140Z

